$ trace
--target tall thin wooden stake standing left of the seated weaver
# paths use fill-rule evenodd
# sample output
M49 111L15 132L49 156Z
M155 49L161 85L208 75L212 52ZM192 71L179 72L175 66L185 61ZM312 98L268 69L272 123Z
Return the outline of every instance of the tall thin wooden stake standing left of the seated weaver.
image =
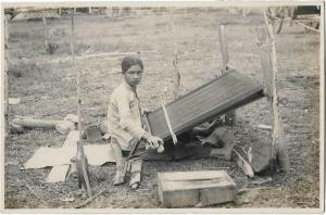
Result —
M72 36L71 36L71 51L72 51L72 64L75 67L75 51L74 51L74 13L72 13ZM82 99L80 99L80 72L77 69L77 98L78 98L78 130L79 130L79 141L78 141L78 150L76 155L76 167L77 167L77 176L78 176L78 184L84 185L87 189L88 197L91 197L91 188L89 184L88 177L88 162L87 157L84 152L83 147L83 135L82 135L82 119L80 119L80 106L82 106Z

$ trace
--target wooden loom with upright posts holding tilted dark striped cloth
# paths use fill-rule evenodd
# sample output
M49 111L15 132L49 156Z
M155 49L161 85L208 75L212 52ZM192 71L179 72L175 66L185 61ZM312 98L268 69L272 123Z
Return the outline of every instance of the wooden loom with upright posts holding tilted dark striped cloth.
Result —
M167 114L164 114L163 108L150 113L148 122L153 135L161 137L163 140L168 140L174 135L180 135L218 115L231 113L231 117L236 118L235 110L237 108L266 97L273 124L272 154L275 153L281 170L288 172L290 169L285 134L279 119L275 39L272 26L267 23L265 11L264 17L266 28L258 29L258 47L264 86L258 85L249 77L230 68L224 26L221 26L220 43L223 56L223 75L167 104L165 110ZM166 118L166 115L168 118ZM171 132L171 130L173 131ZM240 163L239 166L249 165L247 162ZM252 172L251 167L249 169ZM243 170L247 169L243 168ZM253 176L253 174L249 175Z

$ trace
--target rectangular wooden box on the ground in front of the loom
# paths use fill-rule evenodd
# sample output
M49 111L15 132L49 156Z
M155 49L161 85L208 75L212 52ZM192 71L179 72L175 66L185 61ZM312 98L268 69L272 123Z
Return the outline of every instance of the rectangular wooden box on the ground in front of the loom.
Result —
M236 184L225 170L158 173L161 202L166 207L234 201Z

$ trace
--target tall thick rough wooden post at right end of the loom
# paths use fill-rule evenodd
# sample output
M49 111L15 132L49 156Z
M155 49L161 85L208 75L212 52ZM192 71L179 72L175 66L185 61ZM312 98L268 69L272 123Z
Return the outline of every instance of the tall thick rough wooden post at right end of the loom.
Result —
M289 157L286 148L285 132L280 122L280 113L277 99L277 60L273 25L269 23L264 10L265 27L258 31L262 71L265 79L265 94L267 97L271 118L273 119L273 147L279 168L288 172L290 169Z

